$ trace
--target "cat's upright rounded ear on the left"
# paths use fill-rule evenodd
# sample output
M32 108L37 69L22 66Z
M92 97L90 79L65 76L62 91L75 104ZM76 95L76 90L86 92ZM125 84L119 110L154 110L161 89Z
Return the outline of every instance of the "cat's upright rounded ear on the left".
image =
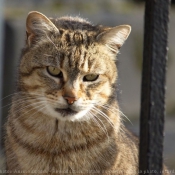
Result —
M32 11L26 19L27 44L30 46L35 37L46 36L49 31L59 32L56 26L42 13Z

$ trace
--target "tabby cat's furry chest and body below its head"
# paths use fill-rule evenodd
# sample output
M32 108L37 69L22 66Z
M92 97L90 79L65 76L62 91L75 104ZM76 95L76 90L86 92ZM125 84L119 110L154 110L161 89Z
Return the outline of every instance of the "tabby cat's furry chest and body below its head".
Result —
M39 113L30 117L31 121L27 120L26 116L23 121L12 122L9 128L8 167L14 172L17 169L24 174L85 175L135 174L137 171L137 145L131 140L131 134L117 134L108 122L107 137L94 122L63 123L52 118L48 121L47 116Z

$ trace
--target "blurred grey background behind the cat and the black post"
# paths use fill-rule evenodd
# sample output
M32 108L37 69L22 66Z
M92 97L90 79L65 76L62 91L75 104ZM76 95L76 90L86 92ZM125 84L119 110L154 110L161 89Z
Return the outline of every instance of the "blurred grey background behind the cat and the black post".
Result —
M164 161L175 173L175 6L172 1L169 25L167 65L166 123ZM39 11L48 17L81 16L93 24L117 26L129 24L132 32L118 55L118 94L120 108L131 120L125 124L139 135L139 113L144 30L144 1L142 0L0 0L0 127L6 121L21 49L25 43L25 19L29 11ZM3 33L2 33L3 29ZM1 42L0 41L0 42ZM4 98L6 97L6 98ZM3 133L1 132L1 152ZM0 170L3 156L0 158Z

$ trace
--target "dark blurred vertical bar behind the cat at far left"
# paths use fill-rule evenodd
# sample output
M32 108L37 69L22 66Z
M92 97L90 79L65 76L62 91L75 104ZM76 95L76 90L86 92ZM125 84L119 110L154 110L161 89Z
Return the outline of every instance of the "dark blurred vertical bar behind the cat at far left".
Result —
M14 26L9 21L4 21L4 42L3 42L3 76L2 76L2 99L1 105L2 107L2 117L1 117L1 133L4 136L4 124L7 120L7 115L9 111L9 106L11 102L11 96L8 97L9 94L12 94L14 91L14 71L15 66L15 30ZM8 97L8 98L7 98ZM6 106L6 107L4 107ZM3 143L1 143L2 148L4 147Z

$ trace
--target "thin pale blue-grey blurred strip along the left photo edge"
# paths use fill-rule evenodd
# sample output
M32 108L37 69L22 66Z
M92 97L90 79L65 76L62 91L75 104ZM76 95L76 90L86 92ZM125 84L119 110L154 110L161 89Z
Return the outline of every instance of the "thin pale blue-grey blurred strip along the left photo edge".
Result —
M0 0L0 150L2 150L3 0Z

